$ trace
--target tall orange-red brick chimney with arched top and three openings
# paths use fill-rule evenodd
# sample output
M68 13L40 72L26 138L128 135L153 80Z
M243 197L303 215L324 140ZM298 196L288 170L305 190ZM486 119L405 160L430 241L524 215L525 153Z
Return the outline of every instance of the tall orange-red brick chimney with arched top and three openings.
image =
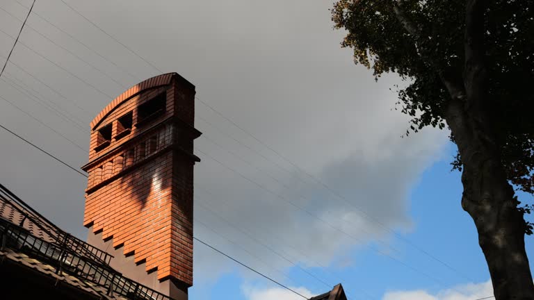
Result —
M175 299L193 285L195 86L134 85L92 120L83 225L111 267Z

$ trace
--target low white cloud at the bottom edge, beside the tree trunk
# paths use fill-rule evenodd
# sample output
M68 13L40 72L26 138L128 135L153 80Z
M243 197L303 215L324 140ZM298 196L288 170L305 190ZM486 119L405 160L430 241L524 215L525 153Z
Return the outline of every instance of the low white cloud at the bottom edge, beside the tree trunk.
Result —
M492 281L469 283L430 294L425 290L387 292L382 300L475 300L493 295Z

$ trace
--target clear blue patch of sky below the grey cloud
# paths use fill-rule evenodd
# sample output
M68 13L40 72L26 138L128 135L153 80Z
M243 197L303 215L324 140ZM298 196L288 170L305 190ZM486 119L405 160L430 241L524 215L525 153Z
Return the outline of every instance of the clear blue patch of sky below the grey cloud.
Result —
M423 290L430 295L442 292L442 297L445 299L444 290L462 287L469 283L478 284L475 290L488 292L489 272L483 253L478 247L476 228L471 217L460 206L462 195L460 172L451 171L450 163L455 145L446 144L445 147L447 155L425 169L410 190L409 214L414 222L413 228L408 233L396 231L408 242L396 235L387 238L389 245L395 249L391 252L394 259L378 253L371 247L358 247L348 253L347 256L350 258L348 265L339 266L332 263L327 268L308 268L302 265L300 267L321 280L342 283L350 299L384 299L387 292L417 290ZM520 200L528 200L529 196L519 194L519 197ZM528 219L532 218L529 216ZM375 249L380 249L380 243L370 242L370 244L378 244ZM202 247L201 244L195 246ZM533 247L532 238L527 236L527 253L533 253ZM437 262L420 249L454 270ZM532 265L531 260L531 267ZM289 267L285 273L298 283L296 285L295 282L282 281L291 288L305 288L305 291L312 294L321 294L328 290L323 283L305 274L298 267ZM216 299L220 295L225 295L225 299L245 300L251 297L251 287L263 292L270 288L277 290L273 283L260 276L251 275L243 278L241 274L243 267L236 265L211 285L194 286L190 290L191 297ZM286 296L284 299L299 299L291 292L283 294ZM469 296L475 294L473 290L467 289L463 295L465 299L469 299ZM491 295L489 293L485 296ZM421 294L417 296L421 299L426 297Z

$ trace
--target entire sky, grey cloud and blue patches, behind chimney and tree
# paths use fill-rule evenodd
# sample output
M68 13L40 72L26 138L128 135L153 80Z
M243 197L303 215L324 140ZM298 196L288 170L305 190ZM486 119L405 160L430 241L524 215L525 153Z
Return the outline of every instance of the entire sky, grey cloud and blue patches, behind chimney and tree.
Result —
M2 62L31 5L17 1L0 3ZM406 83L354 65L332 1L65 3L36 2L0 78L3 126L80 167L107 103L177 72L196 86L203 133L197 238L305 297L337 283L349 299L492 295L448 133L401 137L392 90ZM84 239L86 178L6 131L0 141L0 182ZM199 243L193 277L190 299L302 299Z

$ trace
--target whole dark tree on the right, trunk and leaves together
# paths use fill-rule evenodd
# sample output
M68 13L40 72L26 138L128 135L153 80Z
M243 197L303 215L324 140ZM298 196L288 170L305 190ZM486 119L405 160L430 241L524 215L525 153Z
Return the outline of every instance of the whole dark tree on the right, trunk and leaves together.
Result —
M534 0L337 0L341 45L375 78L396 72L407 133L448 128L462 208L473 218L496 299L534 299L524 219L533 194Z

